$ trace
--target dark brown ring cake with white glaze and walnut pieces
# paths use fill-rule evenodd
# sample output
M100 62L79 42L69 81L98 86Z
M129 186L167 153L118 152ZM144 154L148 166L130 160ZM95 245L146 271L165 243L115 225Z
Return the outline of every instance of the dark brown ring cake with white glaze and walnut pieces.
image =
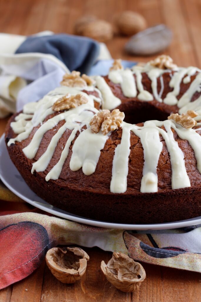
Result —
M125 118L124 118L125 114ZM79 72L8 122L8 152L50 204L116 223L201 215L201 70L168 56ZM82 168L82 169L81 169Z

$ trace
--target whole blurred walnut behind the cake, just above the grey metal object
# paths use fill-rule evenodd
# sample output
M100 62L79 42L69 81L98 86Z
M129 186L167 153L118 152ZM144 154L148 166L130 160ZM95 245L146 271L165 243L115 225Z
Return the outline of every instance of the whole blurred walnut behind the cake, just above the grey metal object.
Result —
M115 20L121 34L132 36L147 27L145 18L134 11L123 11Z

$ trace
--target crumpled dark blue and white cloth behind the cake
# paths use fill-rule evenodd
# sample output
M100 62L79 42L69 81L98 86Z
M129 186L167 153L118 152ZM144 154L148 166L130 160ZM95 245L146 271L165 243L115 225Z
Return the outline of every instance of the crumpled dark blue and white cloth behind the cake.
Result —
M89 74L99 59L111 59L107 47L86 37L0 34L0 118L42 98L65 73Z

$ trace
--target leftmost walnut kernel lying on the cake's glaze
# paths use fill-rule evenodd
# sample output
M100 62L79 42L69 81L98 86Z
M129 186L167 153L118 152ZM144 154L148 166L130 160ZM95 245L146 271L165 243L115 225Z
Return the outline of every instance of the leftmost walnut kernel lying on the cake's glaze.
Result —
M61 111L67 110L70 108L76 108L82 104L88 102L87 98L84 95L64 95L62 98L59 98L52 106L52 110Z

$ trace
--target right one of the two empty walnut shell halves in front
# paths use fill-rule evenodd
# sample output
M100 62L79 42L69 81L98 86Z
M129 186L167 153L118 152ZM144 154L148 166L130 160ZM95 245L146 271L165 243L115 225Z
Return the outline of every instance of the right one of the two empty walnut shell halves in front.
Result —
M122 253L114 252L107 265L102 261L101 269L107 280L124 292L133 292L146 278L143 266Z

